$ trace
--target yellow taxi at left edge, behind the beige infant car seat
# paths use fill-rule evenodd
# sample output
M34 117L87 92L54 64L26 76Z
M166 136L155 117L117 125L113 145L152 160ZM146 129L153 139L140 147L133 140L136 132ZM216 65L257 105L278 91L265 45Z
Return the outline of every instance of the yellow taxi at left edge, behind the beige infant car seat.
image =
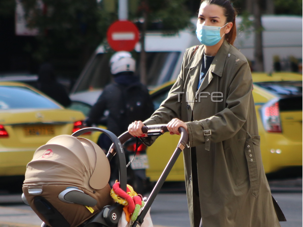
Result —
M82 112L65 109L29 85L0 82L0 176L24 176L39 146L71 135L84 119Z

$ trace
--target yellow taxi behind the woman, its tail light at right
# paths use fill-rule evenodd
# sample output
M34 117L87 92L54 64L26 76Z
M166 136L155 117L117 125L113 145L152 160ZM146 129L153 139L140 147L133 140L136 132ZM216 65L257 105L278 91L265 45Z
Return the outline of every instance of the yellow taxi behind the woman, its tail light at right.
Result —
M253 97L261 136L265 173L291 166L302 166L302 74L253 73ZM167 97L173 82L151 92L157 109ZM165 133L148 147L146 176L157 181L168 163L179 136ZM183 181L183 157L179 156L167 181Z

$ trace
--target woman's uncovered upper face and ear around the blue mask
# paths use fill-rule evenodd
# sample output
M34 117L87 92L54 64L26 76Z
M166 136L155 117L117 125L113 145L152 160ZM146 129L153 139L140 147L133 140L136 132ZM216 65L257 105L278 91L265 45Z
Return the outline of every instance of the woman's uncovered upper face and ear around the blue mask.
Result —
M224 15L224 8L215 4L208 4L202 2L199 15L198 15L198 25L206 26L216 26L223 27L226 24L226 17ZM224 28L220 30L220 36L227 34L231 29L232 23L229 22Z

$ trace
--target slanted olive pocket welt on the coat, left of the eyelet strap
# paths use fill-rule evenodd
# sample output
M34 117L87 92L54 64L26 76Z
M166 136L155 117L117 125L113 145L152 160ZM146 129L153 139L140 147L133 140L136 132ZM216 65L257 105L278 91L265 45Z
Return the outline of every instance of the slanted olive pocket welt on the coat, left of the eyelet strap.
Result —
M230 147L224 150L224 155L229 175L234 180L236 186L241 185L244 181Z

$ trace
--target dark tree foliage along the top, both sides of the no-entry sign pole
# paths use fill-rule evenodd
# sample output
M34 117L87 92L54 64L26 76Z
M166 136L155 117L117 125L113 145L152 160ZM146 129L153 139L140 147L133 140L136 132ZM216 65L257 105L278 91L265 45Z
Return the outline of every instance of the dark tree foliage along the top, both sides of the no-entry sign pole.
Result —
M41 5L43 3L43 6ZM132 0L130 19L140 21L142 0ZM148 23L161 22L167 33L189 25L190 13L185 0L148 0ZM38 28L38 48L28 48L34 58L45 61L54 55L89 53L106 37L109 25L118 19L118 0L22 0L30 27ZM169 31L169 32L168 32Z

